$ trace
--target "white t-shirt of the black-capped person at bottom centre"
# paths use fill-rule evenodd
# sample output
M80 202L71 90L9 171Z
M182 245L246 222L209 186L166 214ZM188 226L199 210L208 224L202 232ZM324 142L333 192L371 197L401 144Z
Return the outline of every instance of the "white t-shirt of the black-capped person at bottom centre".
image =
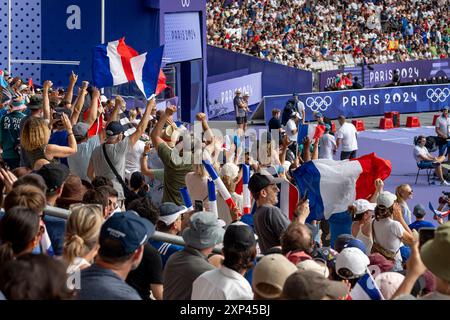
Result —
M192 300L253 300L252 287L225 266L201 274L192 284Z

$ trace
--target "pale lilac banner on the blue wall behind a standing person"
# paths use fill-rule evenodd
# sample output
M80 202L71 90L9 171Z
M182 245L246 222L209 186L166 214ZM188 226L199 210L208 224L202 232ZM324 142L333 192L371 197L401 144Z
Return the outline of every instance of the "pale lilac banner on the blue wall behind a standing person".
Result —
M248 92L249 105L261 101L261 72L225 81L208 84L208 117L218 117L234 111L235 91L240 89L242 95ZM241 95L241 96L242 96Z

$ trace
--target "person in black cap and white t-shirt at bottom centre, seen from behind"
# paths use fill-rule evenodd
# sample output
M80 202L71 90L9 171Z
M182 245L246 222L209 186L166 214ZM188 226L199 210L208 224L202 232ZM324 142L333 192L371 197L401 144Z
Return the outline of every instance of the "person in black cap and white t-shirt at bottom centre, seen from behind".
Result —
M256 258L256 240L247 225L230 225L223 238L223 266L206 271L192 284L192 300L253 300L244 278Z

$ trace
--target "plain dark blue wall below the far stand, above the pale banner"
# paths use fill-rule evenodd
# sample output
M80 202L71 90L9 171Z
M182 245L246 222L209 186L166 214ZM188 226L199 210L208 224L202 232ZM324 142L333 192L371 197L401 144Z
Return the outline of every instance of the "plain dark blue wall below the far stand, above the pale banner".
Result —
M262 72L263 95L312 92L312 73L213 46L207 47L208 76L240 69Z

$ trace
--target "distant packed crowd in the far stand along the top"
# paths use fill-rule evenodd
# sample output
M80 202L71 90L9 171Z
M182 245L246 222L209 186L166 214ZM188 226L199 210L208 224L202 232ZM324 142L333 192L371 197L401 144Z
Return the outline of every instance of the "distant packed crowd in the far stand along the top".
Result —
M450 53L446 0L211 0L207 10L208 44L304 70Z

